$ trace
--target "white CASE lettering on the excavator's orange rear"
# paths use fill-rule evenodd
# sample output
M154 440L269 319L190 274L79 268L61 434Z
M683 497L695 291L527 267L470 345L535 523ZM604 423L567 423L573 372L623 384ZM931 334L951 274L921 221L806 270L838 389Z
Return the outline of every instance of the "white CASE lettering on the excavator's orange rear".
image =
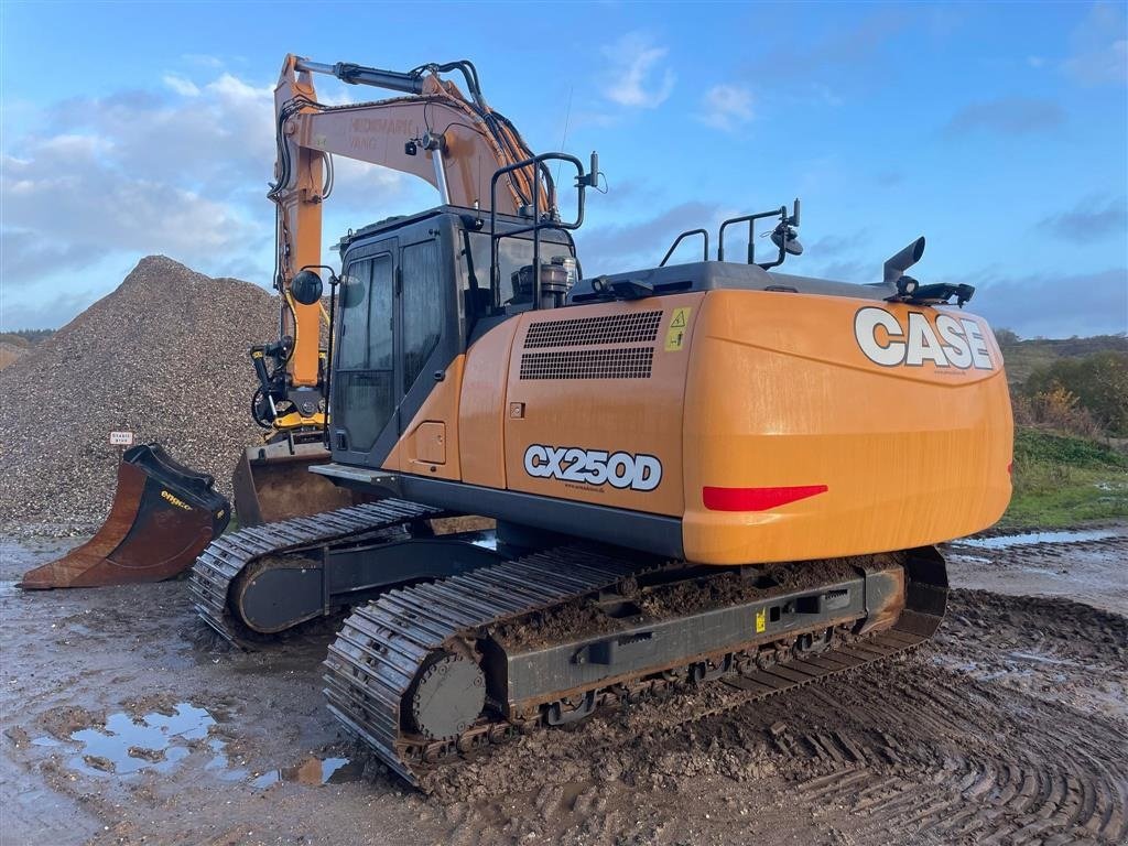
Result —
M909 311L904 319L907 325L875 306L854 315L854 337L874 364L913 368L931 361L938 368L995 369L982 327L975 320L941 314L933 328L923 311Z

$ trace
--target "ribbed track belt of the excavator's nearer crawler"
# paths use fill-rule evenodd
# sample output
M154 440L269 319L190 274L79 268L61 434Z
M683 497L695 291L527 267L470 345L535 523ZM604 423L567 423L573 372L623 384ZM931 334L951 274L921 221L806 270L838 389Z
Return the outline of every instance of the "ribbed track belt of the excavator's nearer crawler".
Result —
M329 711L388 767L418 786L428 765L418 750L429 741L404 735L400 704L430 655L460 640L473 641L486 626L611 587L635 572L637 564L631 559L565 547L393 590L355 608L329 646L324 676ZM910 598L913 593L908 591ZM768 670L726 676L723 681L742 693L713 711L737 707L900 654L929 640L941 619L942 606L940 614L909 608L891 628L864 640ZM712 711L695 713L694 717L708 713ZM499 723L497 728L510 726ZM472 728L467 735L475 731ZM482 737L481 728L477 732L476 737ZM484 737L493 741L504 734L487 732ZM459 749L465 748L467 735L457 741Z

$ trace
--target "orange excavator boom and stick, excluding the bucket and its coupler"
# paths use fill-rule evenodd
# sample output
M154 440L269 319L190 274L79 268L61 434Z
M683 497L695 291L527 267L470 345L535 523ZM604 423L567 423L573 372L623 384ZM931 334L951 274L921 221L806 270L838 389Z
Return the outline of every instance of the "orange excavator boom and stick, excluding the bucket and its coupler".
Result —
M470 96L438 74L462 72ZM408 96L376 103L326 106L317 102L314 73L371 85ZM402 73L355 64L320 64L288 55L274 89L277 131L275 287L284 298L282 336L291 337L288 389L312 394L321 380L319 302L301 305L294 276L321 262L321 204L333 187L333 157L343 156L413 174L435 186L443 203L490 210L490 182L501 167L531 158L513 125L485 103L469 62L424 65ZM519 214L532 204L532 173L513 171L499 192L497 211ZM552 209L552 180L543 175L540 209ZM319 394L317 395L320 399ZM296 402L312 418L317 403Z

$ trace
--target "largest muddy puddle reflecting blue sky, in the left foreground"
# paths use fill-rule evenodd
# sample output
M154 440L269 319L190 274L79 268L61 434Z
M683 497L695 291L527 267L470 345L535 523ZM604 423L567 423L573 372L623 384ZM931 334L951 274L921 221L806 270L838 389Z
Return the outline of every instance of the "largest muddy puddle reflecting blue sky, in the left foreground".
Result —
M214 724L204 708L186 702L178 703L173 714L111 714L104 726L71 734L82 749L70 766L87 775L130 775L142 769L167 773L192 754L188 741L203 740Z

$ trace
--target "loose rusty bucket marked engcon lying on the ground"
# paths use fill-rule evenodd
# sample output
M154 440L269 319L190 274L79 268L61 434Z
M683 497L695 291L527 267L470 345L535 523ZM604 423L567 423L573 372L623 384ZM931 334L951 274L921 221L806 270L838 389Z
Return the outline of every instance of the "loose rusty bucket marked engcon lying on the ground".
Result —
M159 444L127 449L106 522L62 558L25 573L19 587L97 588L159 582L184 572L231 518L213 484Z

